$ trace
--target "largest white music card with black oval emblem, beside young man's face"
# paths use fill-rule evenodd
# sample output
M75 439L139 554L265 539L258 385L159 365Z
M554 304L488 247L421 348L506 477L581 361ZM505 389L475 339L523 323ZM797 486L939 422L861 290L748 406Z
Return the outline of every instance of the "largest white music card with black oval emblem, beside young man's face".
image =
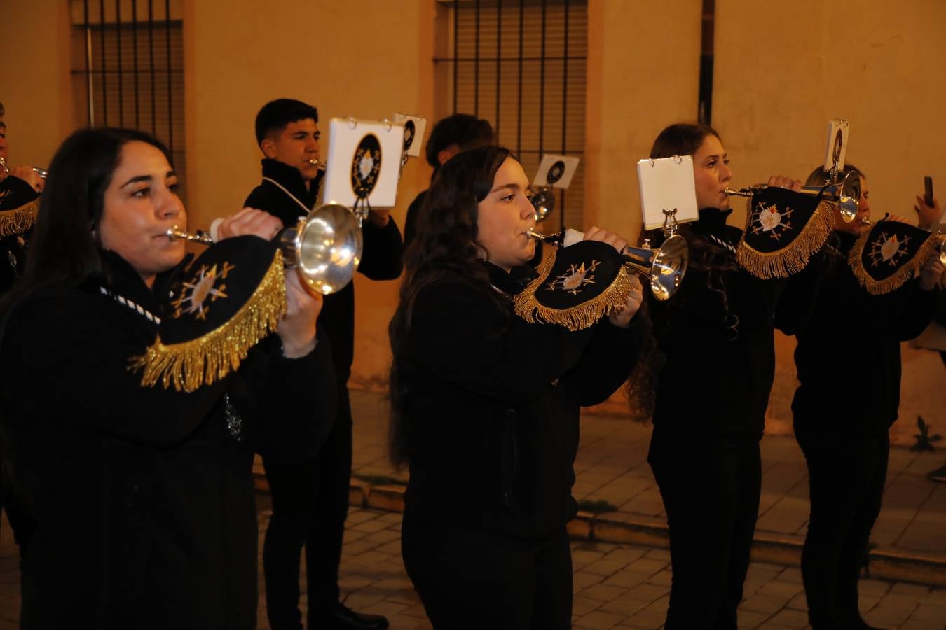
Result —
M352 208L356 200L365 198L373 208L393 208L403 148L403 125L331 119L323 203Z

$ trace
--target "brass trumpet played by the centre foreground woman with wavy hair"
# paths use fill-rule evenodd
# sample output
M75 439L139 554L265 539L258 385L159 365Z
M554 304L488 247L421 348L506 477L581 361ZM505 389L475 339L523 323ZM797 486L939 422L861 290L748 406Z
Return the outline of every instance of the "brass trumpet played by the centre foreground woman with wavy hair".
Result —
M526 233L554 247L567 247L585 236L577 230L546 235L530 228ZM642 247L624 247L622 258L628 268L650 281L654 297L664 301L672 298L680 288L680 283L687 273L690 248L682 236L672 234L663 242L663 246L657 249L651 249L648 241L644 241Z

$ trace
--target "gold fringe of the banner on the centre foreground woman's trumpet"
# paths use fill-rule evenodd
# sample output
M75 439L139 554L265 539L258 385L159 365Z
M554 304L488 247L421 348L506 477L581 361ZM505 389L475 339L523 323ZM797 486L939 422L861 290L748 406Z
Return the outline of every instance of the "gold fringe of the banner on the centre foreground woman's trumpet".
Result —
M631 291L631 277L624 266L621 267L611 285L597 298L567 309L543 306L535 298L535 292L539 291L548 280L554 263L555 257L552 256L535 269L538 278L530 282L529 286L513 300L516 315L529 323L558 324L575 332L594 326L602 317L618 313L624 308L627 294Z

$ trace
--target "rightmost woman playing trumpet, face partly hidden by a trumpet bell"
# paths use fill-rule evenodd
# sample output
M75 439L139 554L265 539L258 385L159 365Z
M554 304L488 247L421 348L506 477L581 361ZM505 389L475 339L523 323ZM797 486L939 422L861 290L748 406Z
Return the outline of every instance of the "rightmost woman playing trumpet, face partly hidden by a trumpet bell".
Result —
M943 267L934 254L918 279L885 295L867 293L847 258L868 229L867 179L848 164L841 177L860 176L858 213L835 214L810 324L798 330L798 388L792 401L795 436L808 464L811 517L801 576L813 630L865 630L857 582L867 542L880 514L890 439L900 405L900 342L916 337L937 306ZM826 183L821 167L808 179Z

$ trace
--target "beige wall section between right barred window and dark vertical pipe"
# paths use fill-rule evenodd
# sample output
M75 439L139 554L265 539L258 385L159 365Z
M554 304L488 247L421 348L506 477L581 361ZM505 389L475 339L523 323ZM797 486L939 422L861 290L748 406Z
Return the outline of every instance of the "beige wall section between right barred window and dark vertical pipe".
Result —
M586 228L637 237L637 162L660 129L696 118L701 4L588 3Z

